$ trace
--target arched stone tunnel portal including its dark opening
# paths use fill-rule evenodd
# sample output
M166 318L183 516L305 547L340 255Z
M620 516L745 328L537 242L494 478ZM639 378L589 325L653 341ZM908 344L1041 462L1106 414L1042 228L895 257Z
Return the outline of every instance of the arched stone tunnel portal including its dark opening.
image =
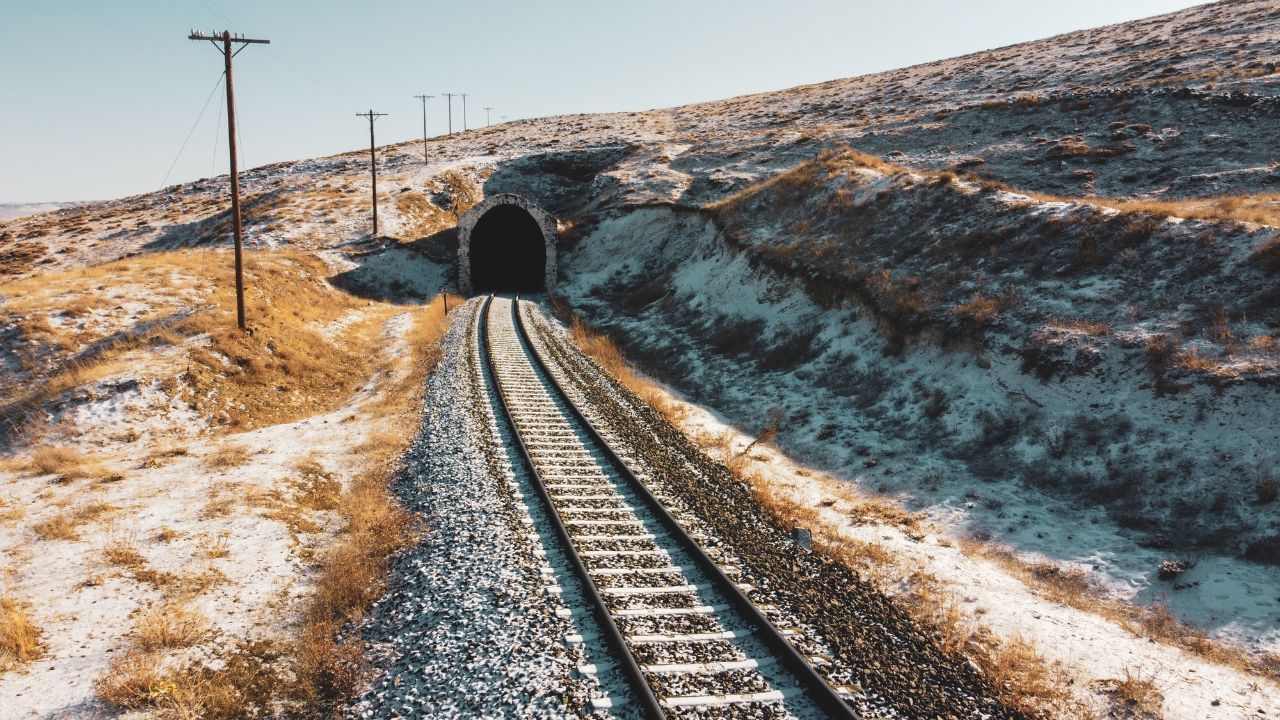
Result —
M458 284L466 293L553 287L556 222L518 195L488 197L458 222Z

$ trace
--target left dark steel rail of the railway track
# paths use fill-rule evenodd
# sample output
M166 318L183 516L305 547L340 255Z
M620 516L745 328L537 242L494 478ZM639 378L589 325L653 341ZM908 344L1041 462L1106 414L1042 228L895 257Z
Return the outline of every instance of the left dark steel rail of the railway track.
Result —
M498 402L502 406L503 418L506 424L511 430L512 437L516 438L516 446L520 450L520 459L529 471L532 479L532 486L538 497L541 500L543 506L547 511L547 518L550 520L552 528L556 532L557 538L559 538L561 546L564 550L564 555L570 560L570 565L573 568L573 574L577 575L579 582L582 585L582 592L586 596L586 601L591 605L591 610L595 612L596 620L600 624L600 629L604 633L605 641L608 642L611 650L617 656L618 664L622 667L623 674L627 676L631 684L631 692L635 694L636 702L644 711L645 717L652 717L654 720L662 720L667 716L666 711L662 708L662 703L658 697L653 693L653 688L644 676L644 671L640 670L640 664L636 661L635 656L631 653L631 648L627 646L626 638L622 635L622 630L618 629L617 623L613 620L613 614L609 612L608 605L604 603L604 598L600 596L599 588L595 587L595 580L591 579L591 574L586 569L586 564L577 552L577 547L573 544L572 537L568 533L568 528L564 527L564 521L559 515L559 510L556 507L556 502L552 500L550 493L547 491L543 483L541 475L538 473L538 468L534 465L532 455L529 452L529 447L525 445L524 438L520 434L520 428L516 427L516 419L511 413L511 406L507 402L507 392L502 387L502 380L498 377L498 369L493 361L493 352L489 347L489 305L493 302L493 296L485 299L484 304L480 306L479 318L479 342L484 356L485 368L489 370L489 375L493 378L493 387L498 391ZM512 302L512 307L518 304ZM527 347L525 337L521 334L522 329L517 327L517 337L520 338L521 346ZM540 365L539 365L540 366ZM486 383L488 384L488 383Z

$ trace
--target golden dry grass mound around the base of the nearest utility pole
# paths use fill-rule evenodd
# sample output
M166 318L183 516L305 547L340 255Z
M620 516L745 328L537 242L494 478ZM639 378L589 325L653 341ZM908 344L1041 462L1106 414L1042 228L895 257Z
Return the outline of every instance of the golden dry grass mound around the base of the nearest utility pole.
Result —
M169 301L154 299L140 322L168 318L136 332L96 327L76 337L58 328L33 328L47 357L56 351L55 370L27 383L24 393L0 404L0 421L15 428L36 423L40 407L68 391L128 366L138 348L172 345L187 354L180 380L168 380L170 392L212 418L220 430L250 429L329 411L346 401L367 378L362 359L376 355L376 338L328 338L320 328L352 310L367 310L365 300L335 290L324 281L329 268L302 251L251 252L246 261L246 310L252 332L236 328L232 264L220 250L161 252L77 270L42 273L13 283L6 311L44 318L60 297L102 296L104 283L132 286L138 295L155 296L169 278L198 277L202 284ZM19 299L19 300L14 300ZM114 302L102 297L104 306ZM189 315L182 313L195 309ZM390 309L378 306L375 313ZM371 318L372 319L372 318ZM47 325L47 323L45 323ZM128 329L128 328L124 328ZM114 333L114 334L113 334ZM198 338L193 342L192 338ZM73 360L72 348L105 343L91 357ZM27 359L32 366L36 357Z

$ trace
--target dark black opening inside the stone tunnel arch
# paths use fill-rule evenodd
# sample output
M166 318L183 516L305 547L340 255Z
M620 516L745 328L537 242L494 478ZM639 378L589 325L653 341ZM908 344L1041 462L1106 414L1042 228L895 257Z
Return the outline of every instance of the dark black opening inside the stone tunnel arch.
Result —
M543 229L524 208L497 205L471 229L471 287L475 292L541 292L547 245Z

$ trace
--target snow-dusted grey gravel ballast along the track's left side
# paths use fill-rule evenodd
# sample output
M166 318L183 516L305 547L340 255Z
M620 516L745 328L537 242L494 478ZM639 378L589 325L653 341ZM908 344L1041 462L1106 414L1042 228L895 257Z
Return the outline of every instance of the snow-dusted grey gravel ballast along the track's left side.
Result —
M600 694L577 671L589 659L564 639L580 628L547 591L563 584L548 580L556 559L531 539L511 465L494 452L471 357L476 307L456 311L429 380L396 487L422 534L393 560L389 591L360 628L374 679L348 716L572 717Z

